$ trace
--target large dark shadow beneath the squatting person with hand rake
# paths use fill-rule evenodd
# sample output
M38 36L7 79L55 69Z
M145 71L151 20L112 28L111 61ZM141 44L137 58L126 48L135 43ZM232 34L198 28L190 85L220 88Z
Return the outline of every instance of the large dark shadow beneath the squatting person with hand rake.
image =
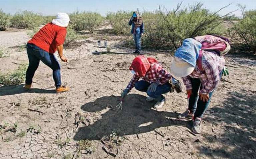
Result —
M188 121L176 120L177 113L160 112L154 109L154 102L146 102L146 97L138 94L129 94L123 102L123 109L116 106L120 97L107 96L96 99L81 107L85 112L105 111L106 107L113 108L102 114L102 118L94 123L80 127L74 140L99 140L113 131L118 135L131 135L150 132L156 128L171 125L189 125ZM169 119L169 118L172 119Z

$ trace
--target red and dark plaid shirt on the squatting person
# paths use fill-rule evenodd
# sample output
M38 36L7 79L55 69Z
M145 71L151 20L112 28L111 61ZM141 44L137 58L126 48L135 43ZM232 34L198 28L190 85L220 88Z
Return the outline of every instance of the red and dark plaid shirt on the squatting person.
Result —
M148 83L156 82L159 85L167 83L171 78L171 74L163 69L162 66L158 63L152 63L146 75L142 77L142 79ZM130 91L134 87L134 84L139 81L139 79L140 77L138 75L133 75L126 89Z

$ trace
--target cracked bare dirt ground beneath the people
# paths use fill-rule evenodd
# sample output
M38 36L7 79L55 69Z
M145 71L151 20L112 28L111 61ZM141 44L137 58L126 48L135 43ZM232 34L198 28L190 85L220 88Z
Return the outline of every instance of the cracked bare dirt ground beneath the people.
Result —
M117 110L135 55L130 48L118 47L124 38L109 34L109 29L88 37L78 48L65 50L70 63L61 62L61 73L69 92L55 94L52 71L42 63L32 91L24 92L24 84L0 87L1 159L256 158L255 57L226 56L230 75L213 95L202 134L195 135L190 121L176 119L187 107L185 93L166 94L166 105L156 111L145 93L133 89L123 110ZM111 53L92 55L106 51L97 47L102 39L107 39ZM0 58L1 72L28 63L26 50L14 47L27 40L24 30L0 32L0 47L7 56ZM169 69L170 53L144 53Z

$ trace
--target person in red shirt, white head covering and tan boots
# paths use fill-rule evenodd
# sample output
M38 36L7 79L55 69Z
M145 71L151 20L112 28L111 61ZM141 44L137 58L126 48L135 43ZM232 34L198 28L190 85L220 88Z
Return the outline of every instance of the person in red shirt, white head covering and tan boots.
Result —
M66 27L69 24L69 16L66 13L58 13L57 18L51 23L41 28L31 40L27 43L27 54L29 66L26 72L25 89L31 89L32 79L39 62L49 66L53 70L53 79L56 86L56 92L65 92L69 87L61 85L60 64L54 56L56 50L60 59L67 62L67 58L63 56L63 43L67 34Z

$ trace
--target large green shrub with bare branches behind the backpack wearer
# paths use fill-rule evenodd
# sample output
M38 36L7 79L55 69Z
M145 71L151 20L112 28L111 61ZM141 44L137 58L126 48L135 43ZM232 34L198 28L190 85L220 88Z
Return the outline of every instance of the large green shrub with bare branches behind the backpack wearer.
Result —
M165 34L166 46L178 48L185 38L209 34L222 35L225 33L225 28L221 24L230 13L219 16L218 12L212 13L202 8L201 3L185 9L180 9L180 6L181 4L178 4L176 10L167 13L161 8L159 9L165 26L163 30L167 30L167 34Z

